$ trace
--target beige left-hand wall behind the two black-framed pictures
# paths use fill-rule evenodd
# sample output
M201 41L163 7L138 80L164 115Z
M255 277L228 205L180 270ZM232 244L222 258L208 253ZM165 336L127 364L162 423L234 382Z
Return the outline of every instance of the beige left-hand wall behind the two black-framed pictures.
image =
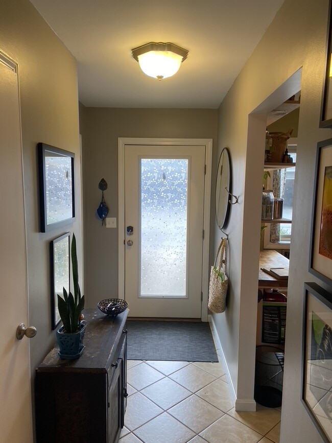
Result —
M28 0L2 2L0 29L0 50L16 60L19 69L29 311L30 324L37 328L37 335L29 341L34 370L55 341L51 329L50 241L66 231L75 231L81 257L76 60ZM46 234L39 232L38 142L72 151L76 156L77 221Z

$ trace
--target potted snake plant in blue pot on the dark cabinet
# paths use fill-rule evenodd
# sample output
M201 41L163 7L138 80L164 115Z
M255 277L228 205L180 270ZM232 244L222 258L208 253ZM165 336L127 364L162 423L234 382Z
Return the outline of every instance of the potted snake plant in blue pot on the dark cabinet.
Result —
M82 310L84 308L84 295L81 296L78 283L78 262L76 252L76 238L73 234L72 240L72 270L74 295L67 293L63 288L63 298L58 294L58 309L62 320L62 327L57 331L57 340L59 344L59 356L61 358L78 358L83 353L83 337L86 328L86 322L82 320Z

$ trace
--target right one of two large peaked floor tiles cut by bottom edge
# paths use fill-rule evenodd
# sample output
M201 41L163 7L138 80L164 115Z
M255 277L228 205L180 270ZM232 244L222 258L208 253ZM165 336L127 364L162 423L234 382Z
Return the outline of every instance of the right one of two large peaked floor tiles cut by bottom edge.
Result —
M227 414L202 431L200 436L209 443L257 443L263 437Z

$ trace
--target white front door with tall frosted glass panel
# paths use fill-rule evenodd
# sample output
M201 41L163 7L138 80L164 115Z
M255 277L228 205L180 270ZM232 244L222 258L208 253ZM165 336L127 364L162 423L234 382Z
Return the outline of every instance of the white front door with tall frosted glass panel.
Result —
M201 317L205 146L125 146L133 317Z

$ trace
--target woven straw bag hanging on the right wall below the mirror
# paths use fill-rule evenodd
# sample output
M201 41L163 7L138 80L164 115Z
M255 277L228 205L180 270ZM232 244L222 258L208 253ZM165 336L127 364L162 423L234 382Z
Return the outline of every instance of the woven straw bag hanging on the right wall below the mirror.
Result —
M220 252L219 264L217 265ZM208 308L214 314L220 314L226 309L228 278L226 275L227 239L222 239L217 251L214 266L211 266Z

